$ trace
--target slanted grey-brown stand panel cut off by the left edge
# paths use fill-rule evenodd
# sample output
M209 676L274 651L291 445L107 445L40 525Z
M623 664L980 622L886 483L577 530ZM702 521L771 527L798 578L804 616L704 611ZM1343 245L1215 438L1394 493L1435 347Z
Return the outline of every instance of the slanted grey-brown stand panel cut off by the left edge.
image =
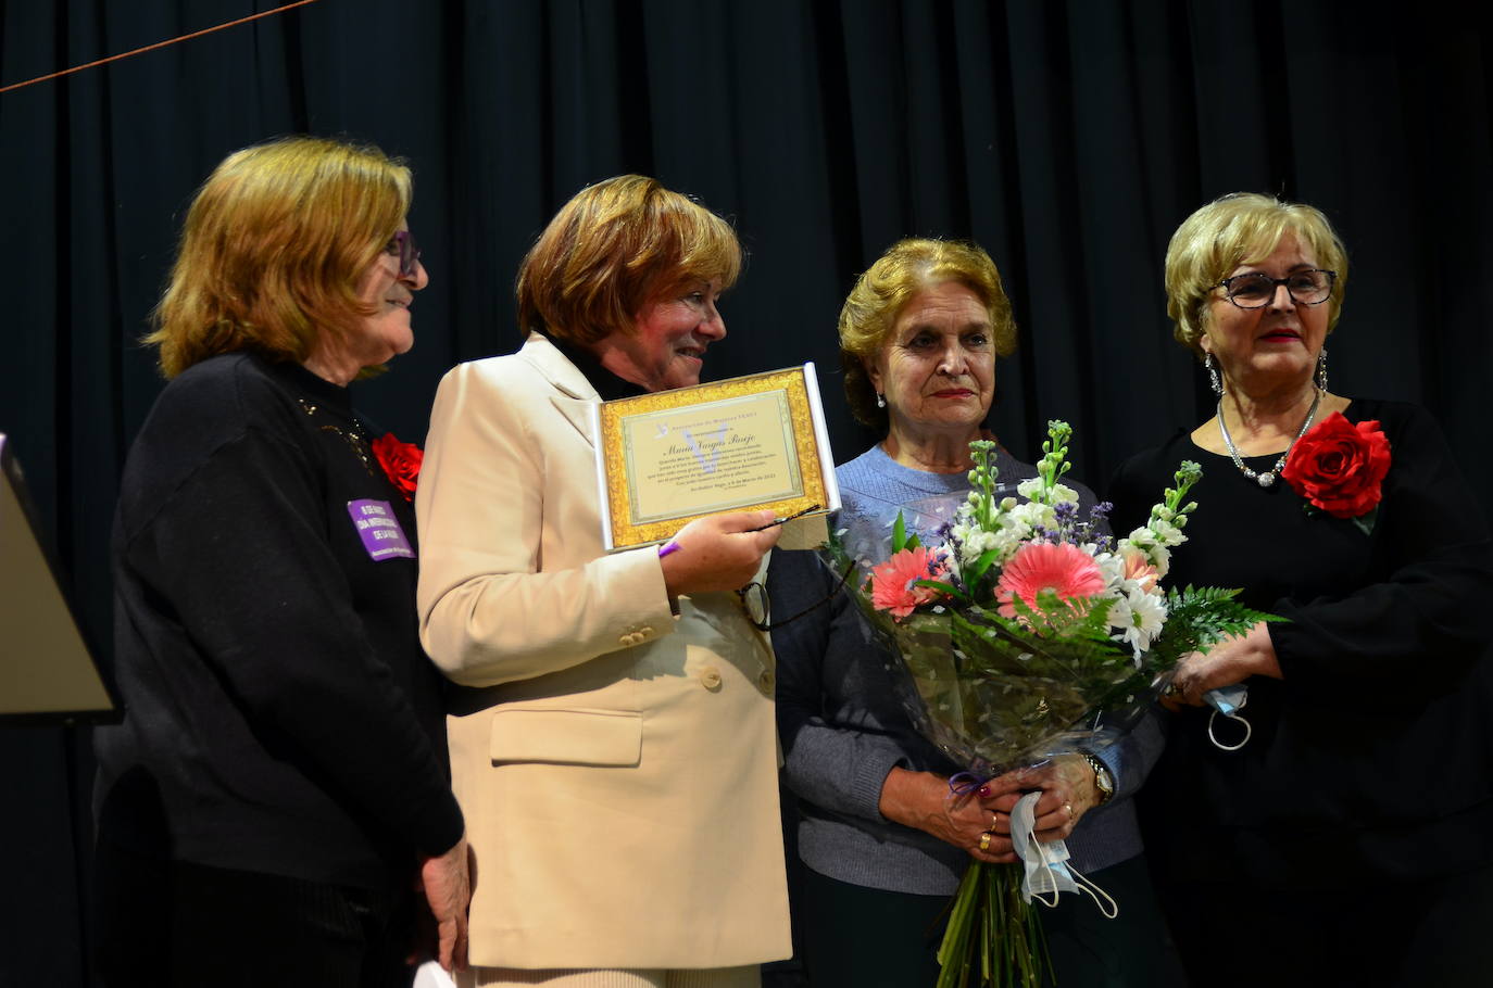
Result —
M0 433L0 725L118 721L118 697L84 640Z

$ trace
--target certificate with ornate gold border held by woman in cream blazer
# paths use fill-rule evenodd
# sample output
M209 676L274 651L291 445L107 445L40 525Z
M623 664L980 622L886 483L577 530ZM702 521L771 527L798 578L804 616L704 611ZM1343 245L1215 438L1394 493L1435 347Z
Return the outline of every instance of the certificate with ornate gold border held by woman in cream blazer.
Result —
M814 364L596 406L609 551L666 542L702 515L839 509Z

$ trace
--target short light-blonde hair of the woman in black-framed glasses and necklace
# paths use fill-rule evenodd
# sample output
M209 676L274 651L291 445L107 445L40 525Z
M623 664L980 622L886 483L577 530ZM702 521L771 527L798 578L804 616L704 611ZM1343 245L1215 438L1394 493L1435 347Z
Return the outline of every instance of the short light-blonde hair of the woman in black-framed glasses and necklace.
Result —
M1314 206L1259 193L1230 193L1208 203L1172 234L1166 248L1166 315L1176 340L1203 358L1202 336L1214 288L1241 264L1259 264L1296 236L1317 264L1336 272L1327 306L1327 331L1338 325L1348 284L1348 251L1327 216Z

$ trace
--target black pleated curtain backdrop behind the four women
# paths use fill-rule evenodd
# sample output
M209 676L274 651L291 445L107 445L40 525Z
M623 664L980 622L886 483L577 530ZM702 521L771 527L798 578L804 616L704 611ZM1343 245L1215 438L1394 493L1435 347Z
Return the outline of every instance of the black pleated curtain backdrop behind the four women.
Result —
M273 6L4 0L0 82ZM1069 419L1102 488L1211 413L1162 257L1196 206L1253 190L1348 243L1333 388L1429 406L1486 491L1489 42L1457 7L1323 0L320 0L0 94L0 431L107 655L119 469L161 388L136 340L182 210L227 152L309 131L415 169L418 343L355 393L403 439L443 370L520 343L514 273L552 212L643 172L749 251L708 376L814 360L838 460L873 439L839 387L854 276L900 236L982 243L1021 327L996 430L1030 460ZM0 985L87 984L87 731L0 730Z

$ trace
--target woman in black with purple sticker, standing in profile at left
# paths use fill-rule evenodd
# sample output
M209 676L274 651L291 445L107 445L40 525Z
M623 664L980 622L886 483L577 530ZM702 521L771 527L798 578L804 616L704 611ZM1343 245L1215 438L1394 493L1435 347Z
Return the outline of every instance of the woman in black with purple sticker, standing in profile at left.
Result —
M411 348L409 170L306 137L230 155L148 342L170 384L113 533L124 722L97 731L109 985L408 984L415 897L461 961L411 451L346 385Z

